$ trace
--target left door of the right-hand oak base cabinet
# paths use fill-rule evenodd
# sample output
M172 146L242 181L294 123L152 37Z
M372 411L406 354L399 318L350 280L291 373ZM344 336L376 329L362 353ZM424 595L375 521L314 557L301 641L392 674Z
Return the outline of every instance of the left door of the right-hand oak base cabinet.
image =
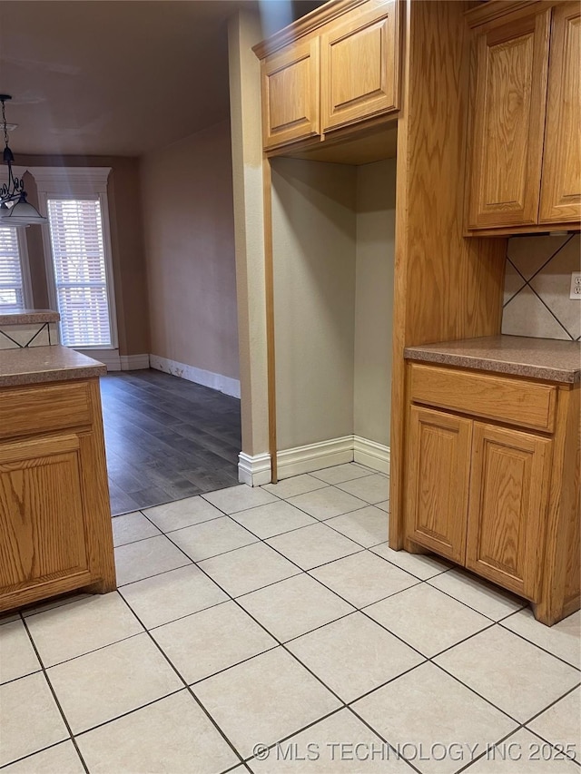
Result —
M464 563L472 422L412 406L408 446L411 540Z

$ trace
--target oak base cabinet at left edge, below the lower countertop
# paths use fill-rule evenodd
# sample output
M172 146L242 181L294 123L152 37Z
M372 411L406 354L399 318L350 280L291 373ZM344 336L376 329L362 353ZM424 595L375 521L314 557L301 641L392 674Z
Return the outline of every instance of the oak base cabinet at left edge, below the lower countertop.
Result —
M0 611L113 591L98 379L4 388L0 427Z

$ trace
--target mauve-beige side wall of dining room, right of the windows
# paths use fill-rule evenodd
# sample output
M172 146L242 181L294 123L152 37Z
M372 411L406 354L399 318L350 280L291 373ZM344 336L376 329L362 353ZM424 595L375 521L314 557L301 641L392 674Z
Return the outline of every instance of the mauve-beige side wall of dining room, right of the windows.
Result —
M239 377L228 122L143 157L153 355Z

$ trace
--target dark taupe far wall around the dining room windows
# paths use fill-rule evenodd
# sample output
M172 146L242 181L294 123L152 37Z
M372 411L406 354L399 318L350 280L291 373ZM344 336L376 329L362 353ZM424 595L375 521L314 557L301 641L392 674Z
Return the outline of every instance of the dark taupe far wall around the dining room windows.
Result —
M117 333L121 355L140 355L149 350L147 283L143 255L143 227L139 197L137 159L119 156L19 156L22 167L111 167L107 181L113 284L117 310ZM29 200L38 205L36 187L30 175L25 176ZM34 307L48 304L41 230L26 230L28 258L31 267Z

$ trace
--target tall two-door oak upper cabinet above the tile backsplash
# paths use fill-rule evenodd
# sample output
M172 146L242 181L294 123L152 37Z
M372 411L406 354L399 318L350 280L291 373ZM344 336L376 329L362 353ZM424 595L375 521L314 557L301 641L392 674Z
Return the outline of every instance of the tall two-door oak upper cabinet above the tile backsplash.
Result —
M487 6L471 15L468 229L578 226L579 5L520 4L508 15Z

